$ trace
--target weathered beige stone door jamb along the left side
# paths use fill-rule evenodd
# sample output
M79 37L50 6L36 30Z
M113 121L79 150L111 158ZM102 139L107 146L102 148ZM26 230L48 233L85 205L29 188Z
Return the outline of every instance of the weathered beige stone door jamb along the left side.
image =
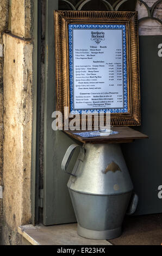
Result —
M3 34L3 245L20 245L17 227L31 223L32 218L32 3L11 1L10 31Z

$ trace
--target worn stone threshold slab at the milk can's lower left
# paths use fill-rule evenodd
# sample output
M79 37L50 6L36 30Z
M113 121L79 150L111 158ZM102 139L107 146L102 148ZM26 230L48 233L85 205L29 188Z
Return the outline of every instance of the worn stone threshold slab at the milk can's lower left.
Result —
M92 240L77 234L77 223L45 226L22 225L21 234L31 245L111 245L107 240Z

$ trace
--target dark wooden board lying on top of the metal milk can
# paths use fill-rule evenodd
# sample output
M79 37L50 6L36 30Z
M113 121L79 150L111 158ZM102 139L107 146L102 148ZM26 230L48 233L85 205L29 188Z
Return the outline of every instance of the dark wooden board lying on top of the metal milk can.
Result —
M91 138L84 138L79 135L75 135L74 133L85 132L85 131L64 131L67 135L77 139L82 143L128 143L133 142L134 139L144 139L148 138L147 135L135 131L134 129L128 126L122 127L113 127L113 131L117 131L119 133L109 136L98 136L98 137L91 137Z

